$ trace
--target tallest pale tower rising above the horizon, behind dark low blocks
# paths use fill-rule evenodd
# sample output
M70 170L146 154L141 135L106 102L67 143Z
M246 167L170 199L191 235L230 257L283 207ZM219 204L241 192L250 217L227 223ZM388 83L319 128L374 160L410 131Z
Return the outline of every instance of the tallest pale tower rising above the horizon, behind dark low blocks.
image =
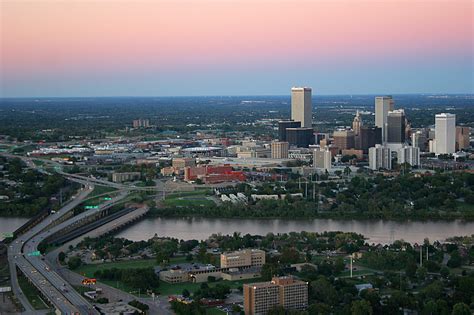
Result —
M311 128L313 119L311 88L294 87L291 89L291 119L301 122L302 128Z

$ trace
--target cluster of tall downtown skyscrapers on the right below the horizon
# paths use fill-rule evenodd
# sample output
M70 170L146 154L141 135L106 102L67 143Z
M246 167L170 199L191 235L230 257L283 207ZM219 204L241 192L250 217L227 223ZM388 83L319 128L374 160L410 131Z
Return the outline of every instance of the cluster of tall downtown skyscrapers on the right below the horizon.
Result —
M405 110L395 108L392 96L375 97L373 125L365 124L357 111L351 127L332 134L315 132L311 88L292 88L291 93L291 120L278 122L272 158L288 158L292 150L308 148L317 170L330 171L343 156L367 159L372 170L391 170L394 163L419 167L422 153L451 155L470 146L470 129L456 126L454 114L437 114L434 128L412 129Z

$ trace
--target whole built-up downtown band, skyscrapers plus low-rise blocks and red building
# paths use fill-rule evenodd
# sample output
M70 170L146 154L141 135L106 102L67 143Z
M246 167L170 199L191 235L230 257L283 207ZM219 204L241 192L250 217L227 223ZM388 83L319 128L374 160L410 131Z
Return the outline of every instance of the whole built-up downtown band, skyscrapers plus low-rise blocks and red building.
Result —
M59 163L90 167L155 165L160 166L162 176L188 183L217 184L285 180L290 172L331 176L347 168L352 172L361 167L378 171L400 169L399 165L404 165L405 170L426 163L430 154L433 160L449 155L457 159L467 154L463 150L470 148L470 129L457 126L455 115L440 113L434 117L433 126L413 128L405 110L396 108L391 96L375 97L373 111L366 106L357 110L335 108L339 113L353 114L352 122L346 120L345 126L320 127L321 121L313 115L312 92L309 87L292 88L291 113L286 119L255 121L273 129L275 136L252 136L235 130L222 134L212 129L196 129L177 136L172 131L163 131L163 139L159 140L108 139L41 145L28 155L49 156ZM138 128L137 132L148 132L155 126L143 118L130 122L132 126L126 130ZM140 180L143 174L136 170L115 170L107 176L115 182L124 182Z

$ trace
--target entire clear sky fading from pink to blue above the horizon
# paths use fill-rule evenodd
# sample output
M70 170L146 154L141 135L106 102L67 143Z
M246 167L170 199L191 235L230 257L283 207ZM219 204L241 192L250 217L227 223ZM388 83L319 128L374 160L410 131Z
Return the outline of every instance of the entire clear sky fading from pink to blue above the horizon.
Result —
M474 93L473 0L0 0L0 97Z

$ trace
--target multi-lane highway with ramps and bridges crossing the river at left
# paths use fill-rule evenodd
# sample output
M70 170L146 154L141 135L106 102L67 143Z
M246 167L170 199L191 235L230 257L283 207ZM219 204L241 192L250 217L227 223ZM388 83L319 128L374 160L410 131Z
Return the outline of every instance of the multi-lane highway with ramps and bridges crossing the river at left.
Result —
M0 153L10 157L21 158L31 168L40 169L32 162L32 159L10 154ZM41 216L31 220L29 224L23 227L15 234L15 239L8 248L8 262L11 274L12 290L15 296L25 308L26 313L34 313L35 310L24 296L19 283L18 272L22 273L43 296L43 298L53 305L57 312L61 314L98 314L98 311L89 301L82 297L74 288L67 283L54 269L50 263L43 257L38 256L38 246L42 242L55 241L62 243L74 237L97 229L102 234L110 233L119 229L130 222L138 220L148 211L147 207L140 209L123 209L113 217L109 216L109 210L112 206L119 203L130 191L142 190L146 187L127 186L118 183L112 183L105 180L89 178L86 176L64 173L61 169L56 172L65 178L85 185L86 189L75 196L73 200L63 206L56 213L43 213ZM83 213L73 216L73 209L84 202L92 192L94 185L103 185L118 189L119 194L112 200L103 203L97 209L89 209ZM157 187L152 187L157 190ZM145 190L148 190L146 188ZM117 192L114 192L117 193ZM117 220L117 221L114 221ZM99 222L99 223L96 223ZM113 228L109 231L103 230L103 224L113 223ZM101 224L102 223L102 224ZM106 224L107 225L107 224ZM61 236L62 233L65 233Z

